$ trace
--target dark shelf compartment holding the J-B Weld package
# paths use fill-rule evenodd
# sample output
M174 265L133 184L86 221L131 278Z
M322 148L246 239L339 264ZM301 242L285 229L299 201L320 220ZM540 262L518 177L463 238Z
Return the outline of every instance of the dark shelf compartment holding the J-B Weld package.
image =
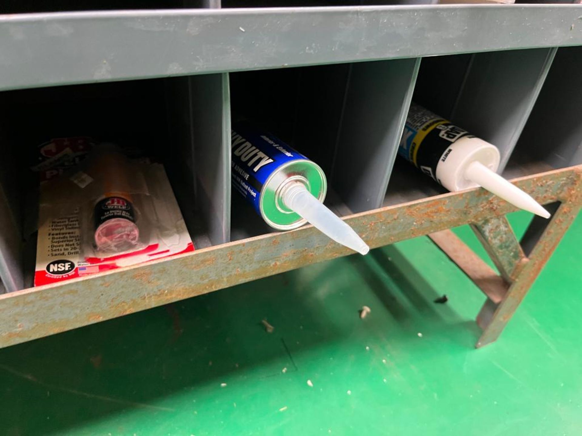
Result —
M192 78L195 98L180 118L169 110L180 103L170 92L174 80L179 79L0 93L3 107L10 109L2 118L6 153L0 171L0 277L7 291L33 285L39 177L30 166L36 163L37 147L52 138L85 135L143 149L164 163L194 245L228 241L230 147L223 138L225 132L226 138L230 135L228 125L221 124L228 120L223 113L228 83L223 74ZM170 139L168 120L176 119L186 126L183 142Z

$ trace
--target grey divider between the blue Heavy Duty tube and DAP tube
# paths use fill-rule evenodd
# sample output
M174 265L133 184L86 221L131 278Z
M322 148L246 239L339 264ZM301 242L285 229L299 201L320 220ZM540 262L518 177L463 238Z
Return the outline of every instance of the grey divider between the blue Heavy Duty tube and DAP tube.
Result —
M420 58L351 66L332 185L353 212L382 205Z

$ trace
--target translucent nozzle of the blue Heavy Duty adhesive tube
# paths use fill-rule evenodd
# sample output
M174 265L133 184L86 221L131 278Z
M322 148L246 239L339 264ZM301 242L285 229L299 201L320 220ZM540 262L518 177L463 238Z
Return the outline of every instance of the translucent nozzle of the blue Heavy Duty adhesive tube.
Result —
M331 210L326 208L300 182L290 183L282 192L285 205L306 219L308 223L328 235L332 240L347 246L362 255L370 251L370 247L359 235L339 219Z

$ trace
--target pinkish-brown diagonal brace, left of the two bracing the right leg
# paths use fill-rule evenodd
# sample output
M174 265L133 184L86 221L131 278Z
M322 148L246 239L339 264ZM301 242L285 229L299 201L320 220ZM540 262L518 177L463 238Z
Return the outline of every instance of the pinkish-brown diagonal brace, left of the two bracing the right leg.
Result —
M488 298L499 303L505 296L508 285L494 270L475 254L450 230L428 234L428 237L447 255L449 259L467 274Z

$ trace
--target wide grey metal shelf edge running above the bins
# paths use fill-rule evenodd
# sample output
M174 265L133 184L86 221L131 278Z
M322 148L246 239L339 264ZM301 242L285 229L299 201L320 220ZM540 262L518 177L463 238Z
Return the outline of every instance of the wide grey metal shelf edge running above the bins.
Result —
M3 15L0 90L582 45L580 15L579 5Z

